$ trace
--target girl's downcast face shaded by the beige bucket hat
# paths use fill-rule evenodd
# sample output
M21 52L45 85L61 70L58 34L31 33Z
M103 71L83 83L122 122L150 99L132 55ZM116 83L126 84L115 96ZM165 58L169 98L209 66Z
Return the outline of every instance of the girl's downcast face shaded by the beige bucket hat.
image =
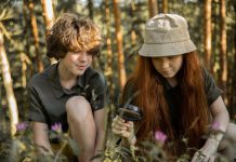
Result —
M166 79L175 78L183 64L183 55L152 57L155 69Z

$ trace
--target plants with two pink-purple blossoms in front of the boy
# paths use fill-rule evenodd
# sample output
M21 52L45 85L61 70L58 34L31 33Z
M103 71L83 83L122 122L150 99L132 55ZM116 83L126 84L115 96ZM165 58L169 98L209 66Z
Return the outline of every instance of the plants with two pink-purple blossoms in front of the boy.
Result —
M16 125L17 133L13 139L8 138L0 148L0 159L5 162L67 162L73 159L65 150L68 148L71 154L78 154L78 147L67 133L62 132L62 124L55 123L49 131L50 139L57 139L58 145L54 154L38 154L32 141L32 133L28 122ZM41 147L41 146L38 146ZM43 148L45 150L45 148Z

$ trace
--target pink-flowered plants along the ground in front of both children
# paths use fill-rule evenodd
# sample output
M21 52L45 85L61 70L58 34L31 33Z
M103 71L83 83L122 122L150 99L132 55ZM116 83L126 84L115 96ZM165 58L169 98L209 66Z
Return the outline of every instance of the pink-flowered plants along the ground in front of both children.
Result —
M11 139L9 136L1 134L1 137L5 138L4 143L1 143L0 159L1 161L14 161L14 162L67 162L71 161L70 157L65 153L68 147L71 149L71 154L78 156L79 148L76 141L69 137L67 133L63 133L62 124L55 123L52 125L49 135L50 139L58 139L58 146L54 154L38 156L32 143L31 131L28 122L22 122L16 125L17 134ZM212 123L210 125L211 134L222 133L220 131L219 123ZM105 151L101 151L93 159L102 158L103 162L169 162L169 157L163 150L163 145L167 143L167 135L160 131L156 131L153 135L154 140L147 140L139 146L122 147L117 145L117 139L114 139L114 135L108 136ZM225 136L227 138L227 136ZM180 157L175 157L176 162L191 162L189 148L187 146L187 138L182 138L185 144L186 150ZM227 138L228 145L232 150L236 150L235 144L232 139ZM223 157L217 153L218 162L230 162L228 157Z

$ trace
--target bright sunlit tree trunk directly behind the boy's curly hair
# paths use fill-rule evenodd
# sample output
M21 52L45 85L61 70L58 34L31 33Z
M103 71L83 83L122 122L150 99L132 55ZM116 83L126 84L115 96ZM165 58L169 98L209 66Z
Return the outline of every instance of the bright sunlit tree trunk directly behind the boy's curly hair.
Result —
M45 36L48 35L49 29L53 26L54 22L54 12L52 8L52 0L41 0L42 4L42 15L45 22ZM51 64L56 63L54 58L50 58Z

